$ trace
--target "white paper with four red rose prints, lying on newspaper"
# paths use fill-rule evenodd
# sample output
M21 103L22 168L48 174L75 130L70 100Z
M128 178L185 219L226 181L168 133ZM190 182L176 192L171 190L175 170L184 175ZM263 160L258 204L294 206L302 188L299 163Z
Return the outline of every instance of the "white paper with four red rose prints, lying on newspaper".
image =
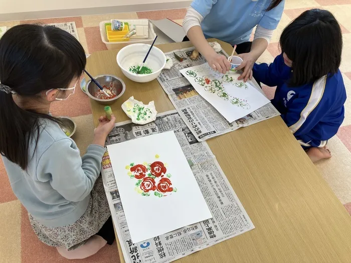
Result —
M133 243L212 217L172 131L107 149Z

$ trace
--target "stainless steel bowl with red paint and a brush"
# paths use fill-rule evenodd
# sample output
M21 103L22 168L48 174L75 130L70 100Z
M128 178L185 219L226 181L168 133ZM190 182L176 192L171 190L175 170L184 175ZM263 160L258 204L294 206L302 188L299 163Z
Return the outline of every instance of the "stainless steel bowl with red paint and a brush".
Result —
M104 85L106 87L109 87L112 83L112 89L116 92L116 97L108 100L102 100L98 99L95 97L95 94L100 90L98 86L92 81L89 80L87 85L86 85L86 90L88 96L97 101L98 103L102 105L111 105L114 103L119 97L121 97L125 91L125 84L124 82L120 79L117 78L116 76L113 75L99 75L97 77L94 77L95 80L103 87Z

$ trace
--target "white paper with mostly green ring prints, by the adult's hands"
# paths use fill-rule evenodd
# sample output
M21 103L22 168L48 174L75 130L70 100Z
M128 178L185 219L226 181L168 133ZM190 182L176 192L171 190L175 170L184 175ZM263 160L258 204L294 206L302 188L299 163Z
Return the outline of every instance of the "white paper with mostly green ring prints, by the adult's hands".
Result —
M236 72L221 74L208 63L180 70L195 90L227 119L236 121L270 101Z

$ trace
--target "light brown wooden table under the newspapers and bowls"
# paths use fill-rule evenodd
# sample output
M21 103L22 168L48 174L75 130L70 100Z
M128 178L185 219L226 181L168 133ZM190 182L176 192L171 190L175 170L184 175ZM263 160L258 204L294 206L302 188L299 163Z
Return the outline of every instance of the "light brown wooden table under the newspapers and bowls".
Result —
M191 44L158 46L163 52L186 47ZM117 122L128 119L120 106L130 96L153 100L158 112L174 109L157 80L143 84L124 77L118 51L93 53L87 64L93 76L112 74L125 82L124 95L111 105ZM104 107L92 100L91 107L97 125ZM280 117L207 142L256 228L177 262L351 261L351 217Z

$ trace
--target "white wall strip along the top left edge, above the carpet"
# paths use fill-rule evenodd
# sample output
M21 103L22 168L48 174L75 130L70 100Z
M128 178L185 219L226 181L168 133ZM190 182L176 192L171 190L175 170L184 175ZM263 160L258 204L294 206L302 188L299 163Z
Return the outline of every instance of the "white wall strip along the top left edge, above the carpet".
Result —
M0 0L0 21L187 8L190 0Z

